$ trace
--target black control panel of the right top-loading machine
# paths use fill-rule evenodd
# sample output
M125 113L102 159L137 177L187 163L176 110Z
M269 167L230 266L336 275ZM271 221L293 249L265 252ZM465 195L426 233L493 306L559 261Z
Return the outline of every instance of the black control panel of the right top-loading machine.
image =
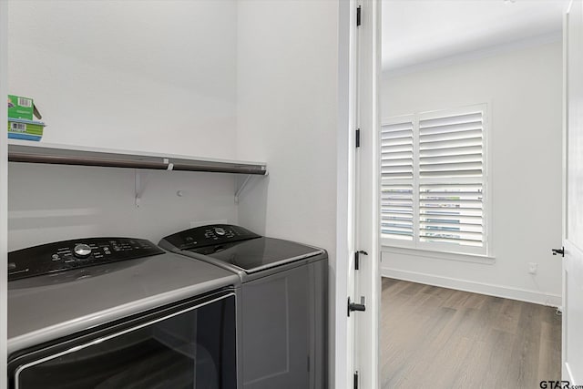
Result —
M172 246L179 250L197 249L199 247L230 243L233 241L246 241L261 238L261 235L251 232L239 226L230 224L212 224L210 226L195 227L183 230L164 238Z

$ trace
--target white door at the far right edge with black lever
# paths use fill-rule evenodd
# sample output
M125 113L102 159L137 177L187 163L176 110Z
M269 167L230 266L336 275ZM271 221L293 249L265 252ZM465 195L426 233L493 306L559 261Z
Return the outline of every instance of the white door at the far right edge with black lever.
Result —
M583 3L565 23L566 185L563 245L563 379L583 384Z

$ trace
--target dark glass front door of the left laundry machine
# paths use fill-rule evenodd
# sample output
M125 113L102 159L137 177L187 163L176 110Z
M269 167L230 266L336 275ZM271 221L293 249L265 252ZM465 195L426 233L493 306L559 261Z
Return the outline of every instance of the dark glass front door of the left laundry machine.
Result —
M221 292L39 348L9 363L15 389L236 389L235 296Z

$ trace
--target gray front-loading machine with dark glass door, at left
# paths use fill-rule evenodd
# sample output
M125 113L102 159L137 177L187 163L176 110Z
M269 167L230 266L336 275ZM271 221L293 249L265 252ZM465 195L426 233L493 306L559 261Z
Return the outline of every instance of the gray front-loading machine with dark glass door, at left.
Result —
M240 278L145 240L8 254L8 387L236 389Z

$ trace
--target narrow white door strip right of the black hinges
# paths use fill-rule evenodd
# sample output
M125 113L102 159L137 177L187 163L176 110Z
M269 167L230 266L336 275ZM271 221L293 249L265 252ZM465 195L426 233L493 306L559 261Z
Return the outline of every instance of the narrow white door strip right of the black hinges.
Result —
M354 386L376 389L378 372L378 324L381 295L379 245L379 134L378 79L381 69L381 1L360 0L357 27L357 123L359 145L355 153L355 229L352 301L365 311L351 313L353 321ZM364 252L366 254L364 254ZM363 307L360 307L363 308Z

